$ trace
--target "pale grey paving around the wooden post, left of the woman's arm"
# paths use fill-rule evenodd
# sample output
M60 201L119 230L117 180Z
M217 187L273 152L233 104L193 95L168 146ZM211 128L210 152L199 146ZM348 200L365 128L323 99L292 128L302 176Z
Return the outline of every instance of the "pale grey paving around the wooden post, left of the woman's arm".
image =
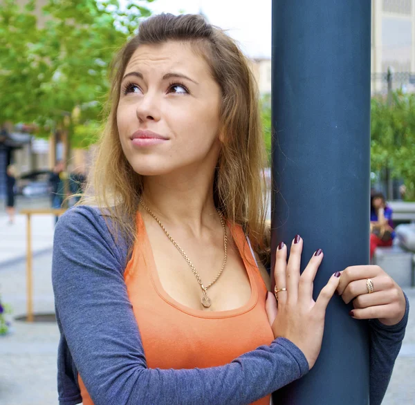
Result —
M33 302L36 314L54 313L50 253L33 261ZM13 317L26 314L26 262L0 267L3 302ZM0 405L57 404L56 323L13 321L12 334L0 337Z

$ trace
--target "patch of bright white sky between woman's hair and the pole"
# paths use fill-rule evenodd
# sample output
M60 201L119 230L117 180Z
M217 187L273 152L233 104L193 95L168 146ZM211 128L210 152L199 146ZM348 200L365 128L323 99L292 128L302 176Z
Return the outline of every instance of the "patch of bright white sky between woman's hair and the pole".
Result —
M154 13L201 10L214 26L229 30L246 55L271 57L271 0L154 0L145 6Z

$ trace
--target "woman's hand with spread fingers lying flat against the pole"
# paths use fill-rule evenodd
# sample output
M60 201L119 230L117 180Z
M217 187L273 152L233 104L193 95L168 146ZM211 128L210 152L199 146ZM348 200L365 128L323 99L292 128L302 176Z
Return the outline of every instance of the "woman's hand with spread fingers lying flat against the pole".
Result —
M268 294L266 312L273 328L274 337L285 337L292 341L306 357L309 368L313 368L320 349L324 332L326 308L340 282L340 272L331 276L321 290L317 300L313 300L313 281L322 263L323 253L317 250L304 272L299 274L303 241L298 235L291 245L287 263L287 247L277 248L275 258L275 285L278 303L273 293ZM317 254L317 256L316 256Z

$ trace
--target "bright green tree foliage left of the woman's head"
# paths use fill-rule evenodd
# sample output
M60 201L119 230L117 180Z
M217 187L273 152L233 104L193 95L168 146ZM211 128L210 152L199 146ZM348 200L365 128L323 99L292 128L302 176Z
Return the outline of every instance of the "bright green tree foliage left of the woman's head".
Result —
M41 25L35 0L24 8L3 0L0 124L35 122L39 135L66 126L73 147L89 146L93 136L86 142L80 126L99 125L111 59L150 15L143 5L151 1L129 1L122 9L117 0L49 0Z

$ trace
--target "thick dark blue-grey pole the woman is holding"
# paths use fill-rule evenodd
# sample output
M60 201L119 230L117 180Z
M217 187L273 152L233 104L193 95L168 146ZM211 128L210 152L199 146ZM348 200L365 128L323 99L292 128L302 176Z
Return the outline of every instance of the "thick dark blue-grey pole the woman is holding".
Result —
M273 252L322 248L314 298L333 272L369 263L370 0L273 0ZM275 404L367 405L366 321L334 296L320 357ZM310 331L312 333L312 331Z

